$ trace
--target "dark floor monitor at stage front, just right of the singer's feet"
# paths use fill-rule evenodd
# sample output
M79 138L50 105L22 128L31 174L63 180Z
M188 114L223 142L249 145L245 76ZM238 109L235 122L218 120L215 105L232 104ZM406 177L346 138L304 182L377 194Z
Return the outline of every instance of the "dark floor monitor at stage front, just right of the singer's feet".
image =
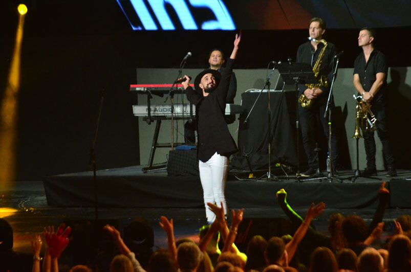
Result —
M255 235L262 236L268 241L271 237L281 237L285 234L293 235L291 221L288 219L244 218L239 225L235 245L245 253L248 242Z

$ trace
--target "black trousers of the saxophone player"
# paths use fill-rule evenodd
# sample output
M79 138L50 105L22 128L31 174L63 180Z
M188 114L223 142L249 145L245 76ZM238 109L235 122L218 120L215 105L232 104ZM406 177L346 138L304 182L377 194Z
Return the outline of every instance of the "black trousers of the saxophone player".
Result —
M326 103L320 105L314 104L311 108L307 109L298 104L298 119L301 127L302 144L307 154L308 165L314 169L318 167L318 155L317 152L314 151L317 143L316 127L322 127L323 133L326 135L327 140L329 140L328 115L324 118L326 106ZM331 108L333 107L334 103L331 103ZM317 118L320 120L319 126L317 125ZM331 118L334 119L332 113ZM338 163L339 145L338 135L334 127L333 120L331 120L331 157L335 167Z

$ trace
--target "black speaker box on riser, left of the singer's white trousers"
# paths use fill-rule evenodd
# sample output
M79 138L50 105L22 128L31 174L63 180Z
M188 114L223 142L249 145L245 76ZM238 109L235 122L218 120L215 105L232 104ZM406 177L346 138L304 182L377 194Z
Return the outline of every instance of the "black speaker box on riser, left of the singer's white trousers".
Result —
M168 153L167 174L169 176L198 176L197 150L170 150Z

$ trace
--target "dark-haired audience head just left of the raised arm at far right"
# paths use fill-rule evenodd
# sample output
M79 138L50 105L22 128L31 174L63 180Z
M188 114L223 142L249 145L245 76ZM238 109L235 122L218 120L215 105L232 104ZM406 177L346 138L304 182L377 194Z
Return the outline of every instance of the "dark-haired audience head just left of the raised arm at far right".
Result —
M367 236L367 225L358 215L350 215L342 221L342 233L350 246L362 243Z

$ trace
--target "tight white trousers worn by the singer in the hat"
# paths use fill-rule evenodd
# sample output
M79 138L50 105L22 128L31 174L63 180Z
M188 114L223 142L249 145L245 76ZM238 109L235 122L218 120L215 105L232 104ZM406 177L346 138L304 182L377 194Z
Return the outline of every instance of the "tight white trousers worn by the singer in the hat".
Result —
M223 202L224 213L227 214L224 191L228 173L228 158L215 152L207 162L199 161L199 171L207 222L211 224L215 220L215 214L208 208L207 202L215 203L219 207L221 207L220 203Z

